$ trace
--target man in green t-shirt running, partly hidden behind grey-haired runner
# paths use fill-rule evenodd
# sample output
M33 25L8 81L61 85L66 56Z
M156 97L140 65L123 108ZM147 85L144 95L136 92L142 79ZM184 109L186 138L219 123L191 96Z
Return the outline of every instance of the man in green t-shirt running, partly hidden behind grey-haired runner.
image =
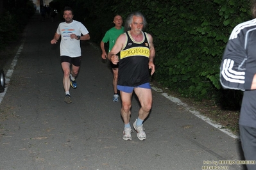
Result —
M101 40L101 50L102 50L101 58L103 59L107 59L107 52L105 51L105 47L104 47L105 43L107 42L109 43L108 52L110 52L112 47L114 47L115 45L115 40L117 39L117 37L124 33L124 27L122 26L123 24L122 17L120 15L115 15L113 22L115 26L110 28L105 34L105 36L103 37L103 39ZM113 89L114 89L113 102L118 102L118 98L119 98L119 95L117 94L118 65L114 65L110 61L110 66L113 71Z

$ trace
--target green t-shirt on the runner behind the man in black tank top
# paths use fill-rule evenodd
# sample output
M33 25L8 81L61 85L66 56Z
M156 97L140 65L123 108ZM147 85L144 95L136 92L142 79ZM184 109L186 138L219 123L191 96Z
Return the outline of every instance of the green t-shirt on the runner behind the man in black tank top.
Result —
M116 29L115 27L112 27L108 29L107 33L102 39L102 42L107 43L109 42L109 49L108 52L114 47L115 40L118 38L119 35L124 33L124 27L122 26L121 29Z

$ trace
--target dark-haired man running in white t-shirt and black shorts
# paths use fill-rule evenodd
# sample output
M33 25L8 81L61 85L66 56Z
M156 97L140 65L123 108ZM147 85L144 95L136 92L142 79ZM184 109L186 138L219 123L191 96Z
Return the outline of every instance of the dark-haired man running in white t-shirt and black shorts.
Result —
M70 104L71 95L69 93L70 86L76 88L76 76L81 63L81 47L80 40L89 40L89 31L81 22L73 20L73 10L70 7L65 7L64 15L65 22L58 25L58 29L51 40L51 44L60 42L60 61L62 70L64 71L63 85L65 89L65 99L67 104ZM72 65L72 66L71 66ZM72 69L71 69L72 68Z

